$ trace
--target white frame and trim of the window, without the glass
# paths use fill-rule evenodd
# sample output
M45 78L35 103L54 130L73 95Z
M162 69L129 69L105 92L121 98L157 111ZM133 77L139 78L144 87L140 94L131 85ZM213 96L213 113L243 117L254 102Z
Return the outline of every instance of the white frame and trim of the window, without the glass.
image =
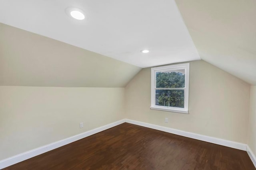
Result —
M180 107L168 107L168 106L156 106L156 72L159 71L172 71L172 70L185 70L185 87L184 88L168 88L172 89L184 89L184 108ZM150 109L171 111L178 113L188 113L188 93L189 93L189 63L174 64L169 66L160 66L151 68L151 107Z

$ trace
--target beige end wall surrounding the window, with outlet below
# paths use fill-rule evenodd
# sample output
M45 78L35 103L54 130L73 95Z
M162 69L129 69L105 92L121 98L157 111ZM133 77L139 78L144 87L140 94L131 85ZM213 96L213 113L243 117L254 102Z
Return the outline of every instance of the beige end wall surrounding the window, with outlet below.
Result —
M189 114L152 110L142 69L125 88L126 118L247 143L250 85L204 61L190 62L189 85Z

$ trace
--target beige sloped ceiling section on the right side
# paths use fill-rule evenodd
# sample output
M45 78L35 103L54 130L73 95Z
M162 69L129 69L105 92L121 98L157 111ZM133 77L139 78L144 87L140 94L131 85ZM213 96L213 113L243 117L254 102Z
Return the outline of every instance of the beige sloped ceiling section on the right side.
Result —
M256 85L256 0L176 0L204 61Z

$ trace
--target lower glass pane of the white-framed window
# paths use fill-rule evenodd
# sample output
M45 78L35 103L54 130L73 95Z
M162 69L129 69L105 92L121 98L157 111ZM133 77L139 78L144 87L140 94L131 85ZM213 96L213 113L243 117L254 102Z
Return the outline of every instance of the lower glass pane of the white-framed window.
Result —
M156 90L156 106L184 108L184 90Z

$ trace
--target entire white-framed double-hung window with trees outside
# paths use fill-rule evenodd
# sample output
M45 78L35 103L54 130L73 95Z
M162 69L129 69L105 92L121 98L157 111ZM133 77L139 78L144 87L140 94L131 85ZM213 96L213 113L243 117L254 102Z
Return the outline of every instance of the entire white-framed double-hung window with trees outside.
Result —
M151 109L188 113L189 63L151 68Z

